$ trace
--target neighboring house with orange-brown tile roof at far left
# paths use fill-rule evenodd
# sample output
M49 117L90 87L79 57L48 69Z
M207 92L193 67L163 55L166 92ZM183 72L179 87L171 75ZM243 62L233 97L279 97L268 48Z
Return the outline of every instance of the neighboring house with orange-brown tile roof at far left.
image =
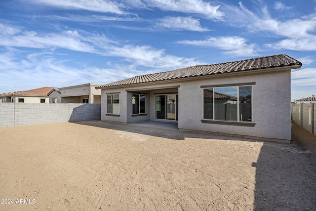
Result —
M1 102L11 103L49 103L47 94L52 87L41 87L26 91L16 91L0 94Z

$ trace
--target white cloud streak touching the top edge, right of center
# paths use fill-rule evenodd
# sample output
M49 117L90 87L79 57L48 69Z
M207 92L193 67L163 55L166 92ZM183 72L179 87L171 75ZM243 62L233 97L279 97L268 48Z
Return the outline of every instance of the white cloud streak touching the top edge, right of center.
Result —
M203 0L144 0L149 7L161 10L196 13L211 19L222 19L224 13L219 5L213 6Z

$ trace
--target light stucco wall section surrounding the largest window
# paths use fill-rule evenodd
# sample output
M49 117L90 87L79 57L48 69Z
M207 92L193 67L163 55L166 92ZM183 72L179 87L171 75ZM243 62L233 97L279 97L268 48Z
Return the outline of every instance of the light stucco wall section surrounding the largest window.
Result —
M252 108L255 127L201 123L201 85L253 83ZM291 140L290 70L190 81L179 87L179 128Z

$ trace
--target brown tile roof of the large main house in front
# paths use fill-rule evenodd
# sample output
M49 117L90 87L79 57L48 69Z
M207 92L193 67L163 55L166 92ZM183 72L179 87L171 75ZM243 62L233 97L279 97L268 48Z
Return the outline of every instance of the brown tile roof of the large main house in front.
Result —
M181 68L177 70L171 70L161 73L153 73L142 76L135 76L129 79L124 79L118 82L113 82L110 84L104 84L97 86L96 88L111 87L111 86L120 86L120 85L129 85L129 84L141 84L165 80L173 80L180 78L188 78L195 76L206 76L206 75L215 75L222 73L232 73L232 72L241 72L247 70L259 70L259 69L269 69L275 67L284 67L284 66L294 66L300 65L302 63L296 59L293 59L285 54L265 56L253 59L246 59L234 62L226 62L220 64L212 65L196 65L186 68Z

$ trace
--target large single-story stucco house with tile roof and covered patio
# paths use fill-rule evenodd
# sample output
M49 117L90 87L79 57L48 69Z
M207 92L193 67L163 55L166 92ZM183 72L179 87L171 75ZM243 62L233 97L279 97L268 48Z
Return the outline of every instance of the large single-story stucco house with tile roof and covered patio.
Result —
M301 66L280 54L104 84L97 87L101 120L174 122L179 129L288 141L291 69Z

